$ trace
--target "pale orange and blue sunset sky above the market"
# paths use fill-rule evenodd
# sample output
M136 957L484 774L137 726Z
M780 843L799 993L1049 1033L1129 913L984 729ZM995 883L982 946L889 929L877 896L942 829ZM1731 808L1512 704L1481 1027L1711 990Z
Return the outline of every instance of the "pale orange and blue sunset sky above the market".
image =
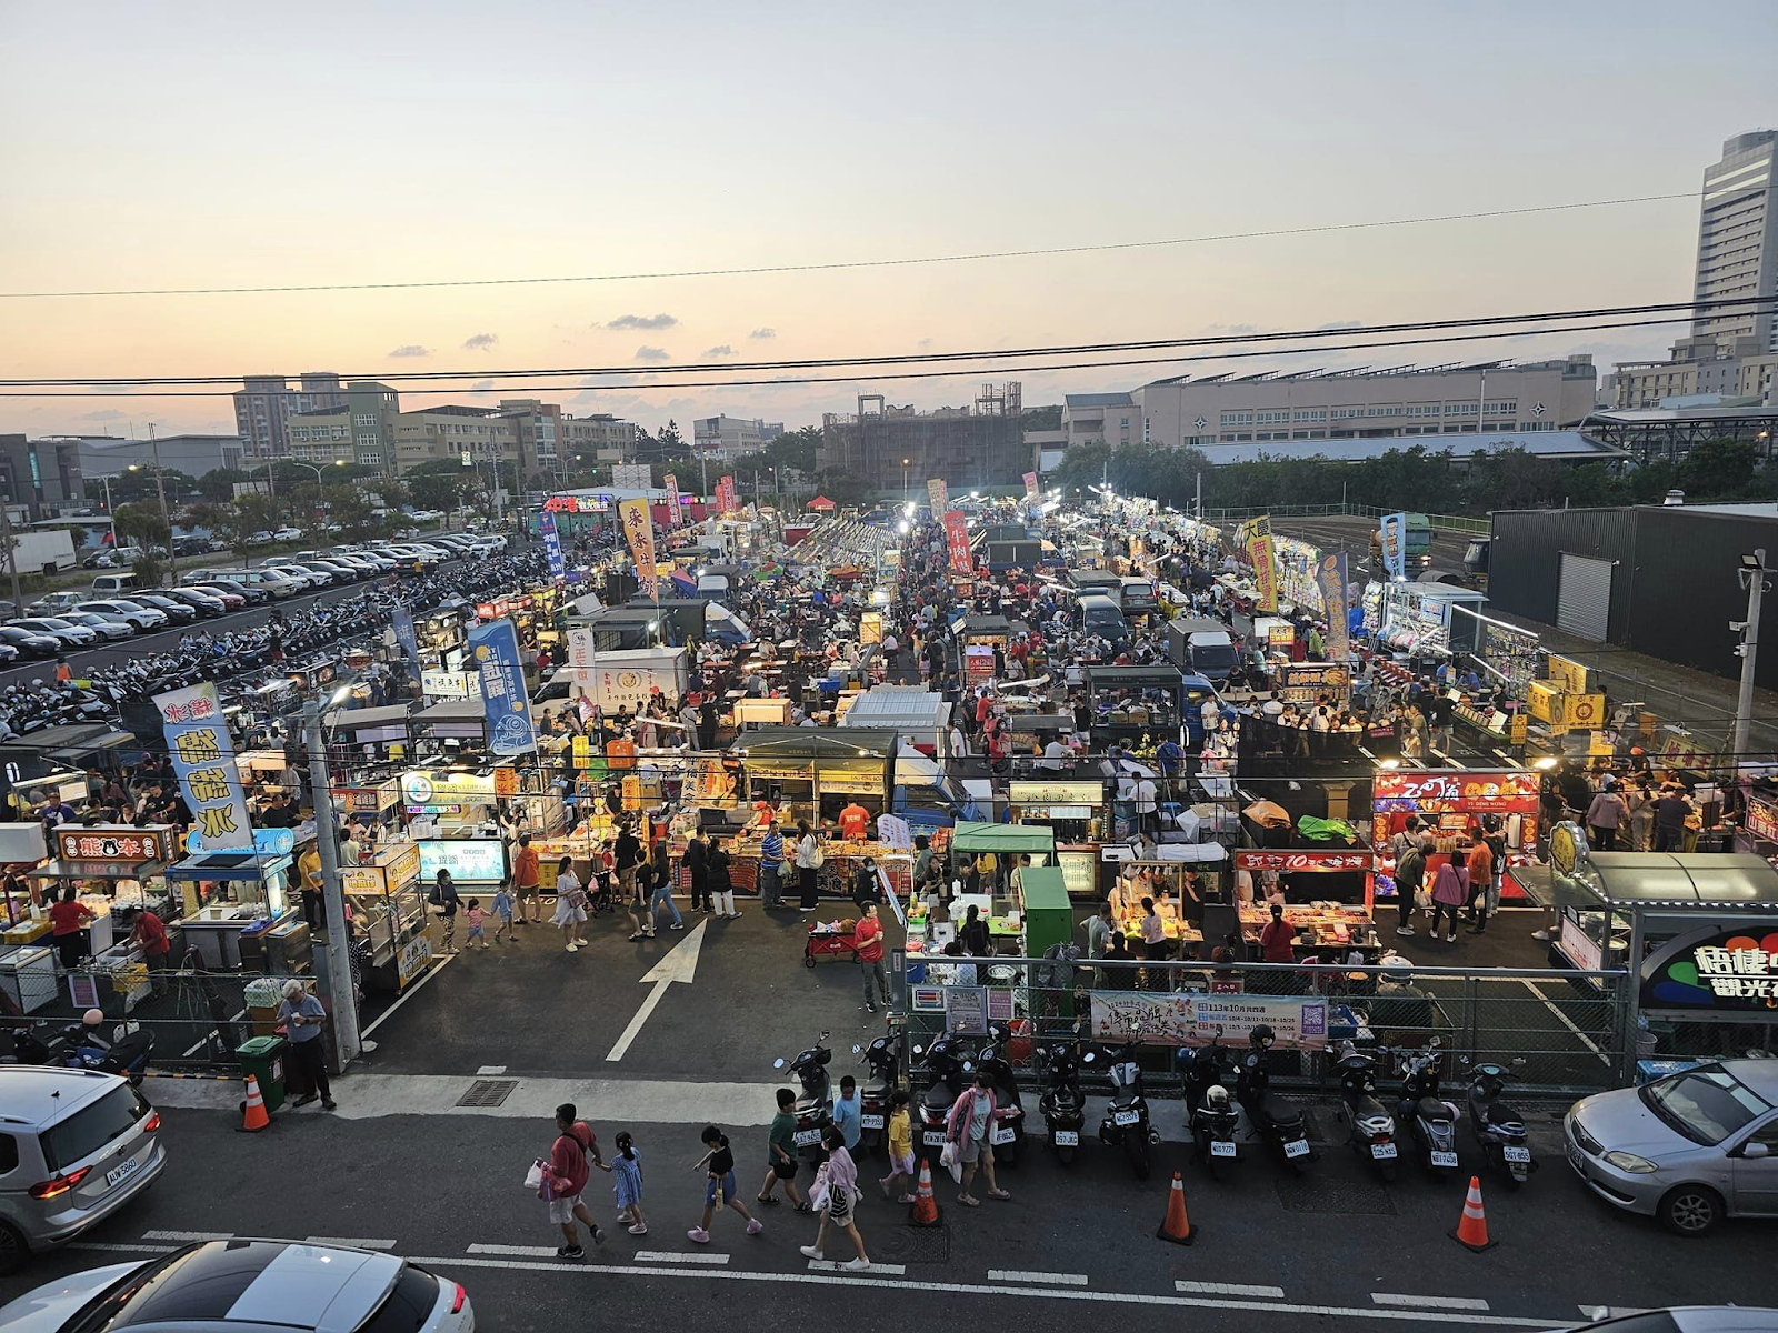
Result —
M1778 123L1771 0L20 4L0 291L877 259L1696 190ZM1684 300L1694 199L848 272L5 299L7 377L720 366ZM665 316L660 318L660 316ZM615 325L615 327L613 327ZM770 331L770 336L765 332ZM1396 361L1659 355L1677 331ZM757 334L757 336L756 336ZM729 348L724 352L722 348ZM1317 361L1316 364L1321 364ZM1197 370L1197 368L1193 368ZM1026 403L1168 373L1028 373ZM535 384L537 380L519 380ZM544 395L649 427L859 387ZM404 393L404 405L493 396ZM0 402L0 432L233 432L220 398Z

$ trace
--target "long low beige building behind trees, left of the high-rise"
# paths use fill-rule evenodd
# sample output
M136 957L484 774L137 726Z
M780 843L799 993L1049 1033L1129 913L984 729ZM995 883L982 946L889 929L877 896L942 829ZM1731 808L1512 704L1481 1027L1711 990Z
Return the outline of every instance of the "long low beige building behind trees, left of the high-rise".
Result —
M1570 430L1593 409L1595 387L1590 355L1239 379L1179 375L1127 393L1070 393L1061 428L1070 448Z

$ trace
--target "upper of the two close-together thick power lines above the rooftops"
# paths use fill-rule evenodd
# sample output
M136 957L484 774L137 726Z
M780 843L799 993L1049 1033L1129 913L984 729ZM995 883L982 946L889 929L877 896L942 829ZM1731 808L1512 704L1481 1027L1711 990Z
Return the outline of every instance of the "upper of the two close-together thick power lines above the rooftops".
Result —
M1620 315L1666 315L1673 311L1687 311L1691 315L1700 315L1703 311L1741 311L1748 307L1766 306L1778 302L1778 297L1723 297L1716 300L1670 300L1641 306L1591 306L1582 309L1565 309L1565 311L1533 311L1524 315L1465 315L1451 320L1405 320L1398 323L1373 323L1364 327L1339 329L1337 332L1351 338L1369 338L1373 334L1394 334L1394 332L1426 332L1433 329L1469 329L1469 327L1504 327L1511 323L1529 323L1534 320L1602 320L1616 318ZM651 375L695 375L709 373L720 370L724 373L741 371L741 370L814 370L814 368L834 368L834 366L887 366L887 364L944 364L955 361L985 361L985 359L1005 359L1005 357L1038 357L1038 355L1092 355L1097 352L1147 352L1163 347L1229 347L1229 345L1246 345L1246 343L1277 343L1277 341L1296 341L1296 339L1317 339L1330 336L1332 329L1280 329L1275 332L1253 332L1253 334L1216 334L1216 336L1198 336L1198 338L1150 338L1150 339L1124 339L1117 343L1063 343L1054 347L1013 347L1013 348L985 348L976 352L901 352L889 355L861 355L861 357L807 357L807 359L779 359L779 361L736 361L722 366L660 366L651 370ZM1502 332L1501 336L1510 336ZM1378 345L1382 347L1382 343ZM539 375L539 377L574 377L574 375L633 375L637 368L633 364L626 366L546 366L530 370L425 370L425 371L405 371L393 375L377 373L338 373L341 380L384 380L393 384L443 384L446 380L496 380L496 379L517 379L521 375ZM969 371L978 373L978 371ZM288 375L284 379L290 379ZM300 379L300 377L299 377ZM80 377L60 377L60 379L0 379L0 387L28 387L28 386L84 386L84 387L140 387L153 384L242 384L240 375L80 375ZM300 395L306 389L272 389L270 393Z

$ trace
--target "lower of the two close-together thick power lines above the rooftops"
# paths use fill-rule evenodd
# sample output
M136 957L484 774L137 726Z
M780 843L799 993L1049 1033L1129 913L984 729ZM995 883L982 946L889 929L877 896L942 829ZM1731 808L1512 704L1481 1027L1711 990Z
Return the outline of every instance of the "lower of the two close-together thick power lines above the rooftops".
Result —
M761 386L781 386L781 384L855 384L861 379L871 382L882 380L928 380L928 379L955 379L955 377L976 377L976 375L1028 375L1033 371L1063 371L1063 370L1104 370L1120 366L1179 366L1198 361L1239 361L1246 357L1285 357L1285 355L1316 355L1321 352L1366 352L1373 348L1390 348L1390 347L1424 347L1430 343L1474 343L1474 341L1497 341L1501 338L1547 338L1552 334L1575 334L1575 332L1600 332L1606 329L1650 329L1657 325L1671 323L1691 323L1689 315L1675 315L1659 320L1623 320L1611 323L1577 323L1563 325L1556 329L1490 329L1486 332L1472 334L1438 334L1435 338L1392 338L1380 343L1317 343L1314 347L1268 347L1248 352L1205 352L1198 355L1177 355L1177 357L1125 357L1118 361L1061 361L1044 366L976 366L969 370L914 370L905 373L889 375L791 375L777 379L745 379L745 380L674 380L669 386L661 386L653 380L633 380L633 382L613 382L613 384L587 384L587 386L567 386L594 389L597 393L610 393L613 389L738 389L738 387L761 387ZM89 382L89 380L82 380ZM507 384L507 386L489 386L489 387L450 387L453 395L485 395L485 393L505 393L505 395L530 395L530 393L557 393L562 384ZM444 393L446 389L439 389ZM0 391L0 398L231 398L240 389L5 389ZM341 409L343 411L343 409Z

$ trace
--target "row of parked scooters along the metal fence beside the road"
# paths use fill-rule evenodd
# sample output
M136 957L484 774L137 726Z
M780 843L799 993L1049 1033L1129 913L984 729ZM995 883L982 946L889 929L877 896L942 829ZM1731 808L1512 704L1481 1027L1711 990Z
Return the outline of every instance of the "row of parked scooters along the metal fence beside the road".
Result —
M827 1072L832 1049L827 1033L816 1043L777 1068L797 1079L797 1146L811 1159L820 1157L821 1130L832 1123L834 1088ZM1298 1106L1271 1093L1268 1052L1277 1034L1269 1024L1248 1033L1246 1050L1232 1050L1220 1042L1179 1052L1184 1100L1189 1107L1193 1161L1221 1178L1243 1155L1259 1145L1293 1173L1309 1169L1316 1152ZM1012 1114L990 1132L994 1161L1015 1166L1024 1148L1024 1093L1008 1058L1008 1031L990 1024L985 1038L944 1033L930 1045L916 1045L912 1054L926 1074L926 1088L914 1098L916 1152L937 1161L944 1148L946 1118L980 1074L992 1079L994 1098ZM861 1150L875 1152L884 1141L889 1097L900 1082L900 1050L878 1036L869 1045L855 1045L853 1054L868 1066L859 1086ZM1102 1072L1109 1084L1099 1141L1118 1148L1129 1159L1138 1180L1149 1178L1152 1148L1159 1143L1143 1090L1140 1061L1141 1033L1133 1031L1120 1045L1054 1042L1037 1049L1042 1072L1038 1114L1049 1132L1049 1146L1063 1166L1074 1161L1086 1132L1086 1095L1083 1072ZM1430 1171L1453 1175L1460 1169L1456 1123L1460 1109L1440 1097L1442 1050L1438 1038L1421 1049L1403 1047L1374 1052L1344 1042L1337 1052L1341 1081L1339 1118L1346 1125L1348 1146L1371 1164L1383 1180L1394 1180L1403 1155L1417 1157ZM1394 1106L1378 1095L1378 1074L1385 1065L1401 1075ZM1524 1116L1501 1100L1511 1070L1485 1061L1470 1066L1469 1123L1488 1169L1510 1189L1517 1189L1536 1169L1526 1141ZM1230 1093L1230 1088L1234 1090Z

